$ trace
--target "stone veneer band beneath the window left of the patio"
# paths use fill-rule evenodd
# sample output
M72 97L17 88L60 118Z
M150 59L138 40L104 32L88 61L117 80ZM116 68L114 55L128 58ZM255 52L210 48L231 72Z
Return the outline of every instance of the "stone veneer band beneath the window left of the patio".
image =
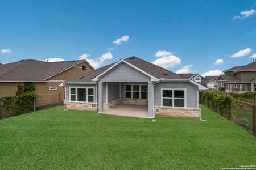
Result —
M64 101L64 106L67 105L67 101ZM77 109L82 111L97 111L98 110L98 104L90 104L85 102L79 102L79 101L68 101L68 108L69 109Z

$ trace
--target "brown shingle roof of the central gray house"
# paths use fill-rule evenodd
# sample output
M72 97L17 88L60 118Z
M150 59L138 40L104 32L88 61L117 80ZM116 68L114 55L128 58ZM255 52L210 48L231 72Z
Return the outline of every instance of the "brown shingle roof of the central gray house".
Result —
M155 76L155 78L158 79L186 79L183 76L173 73L172 71L163 69L162 67L156 66L150 62L144 61L141 58L138 57L129 57L124 59L125 61L131 63L132 65L138 67L139 69L147 72L148 74ZM112 63L110 65L101 67L99 69L90 71L89 73L85 73L79 76L76 76L74 78L68 79L65 82L92 82L92 79L98 75L100 75L105 70L109 69L112 65L115 63Z

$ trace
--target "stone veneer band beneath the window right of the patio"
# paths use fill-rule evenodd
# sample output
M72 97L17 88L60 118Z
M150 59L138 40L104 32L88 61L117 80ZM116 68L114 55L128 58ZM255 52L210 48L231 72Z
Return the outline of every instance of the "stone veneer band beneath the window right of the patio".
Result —
M201 109L154 107L154 115L165 115L174 117L201 118Z

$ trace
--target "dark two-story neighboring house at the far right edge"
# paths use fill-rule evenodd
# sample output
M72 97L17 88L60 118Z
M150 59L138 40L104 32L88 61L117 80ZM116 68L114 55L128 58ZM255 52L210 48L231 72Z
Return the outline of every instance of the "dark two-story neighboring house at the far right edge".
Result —
M255 61L245 66L236 66L225 70L225 74L220 75L217 79L218 88L227 92L254 92L256 83Z

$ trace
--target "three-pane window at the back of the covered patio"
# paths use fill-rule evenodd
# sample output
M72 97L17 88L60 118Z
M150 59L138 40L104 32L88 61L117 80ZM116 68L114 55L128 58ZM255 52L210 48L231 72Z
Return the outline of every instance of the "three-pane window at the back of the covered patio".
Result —
M125 98L147 99L147 84L125 84Z

